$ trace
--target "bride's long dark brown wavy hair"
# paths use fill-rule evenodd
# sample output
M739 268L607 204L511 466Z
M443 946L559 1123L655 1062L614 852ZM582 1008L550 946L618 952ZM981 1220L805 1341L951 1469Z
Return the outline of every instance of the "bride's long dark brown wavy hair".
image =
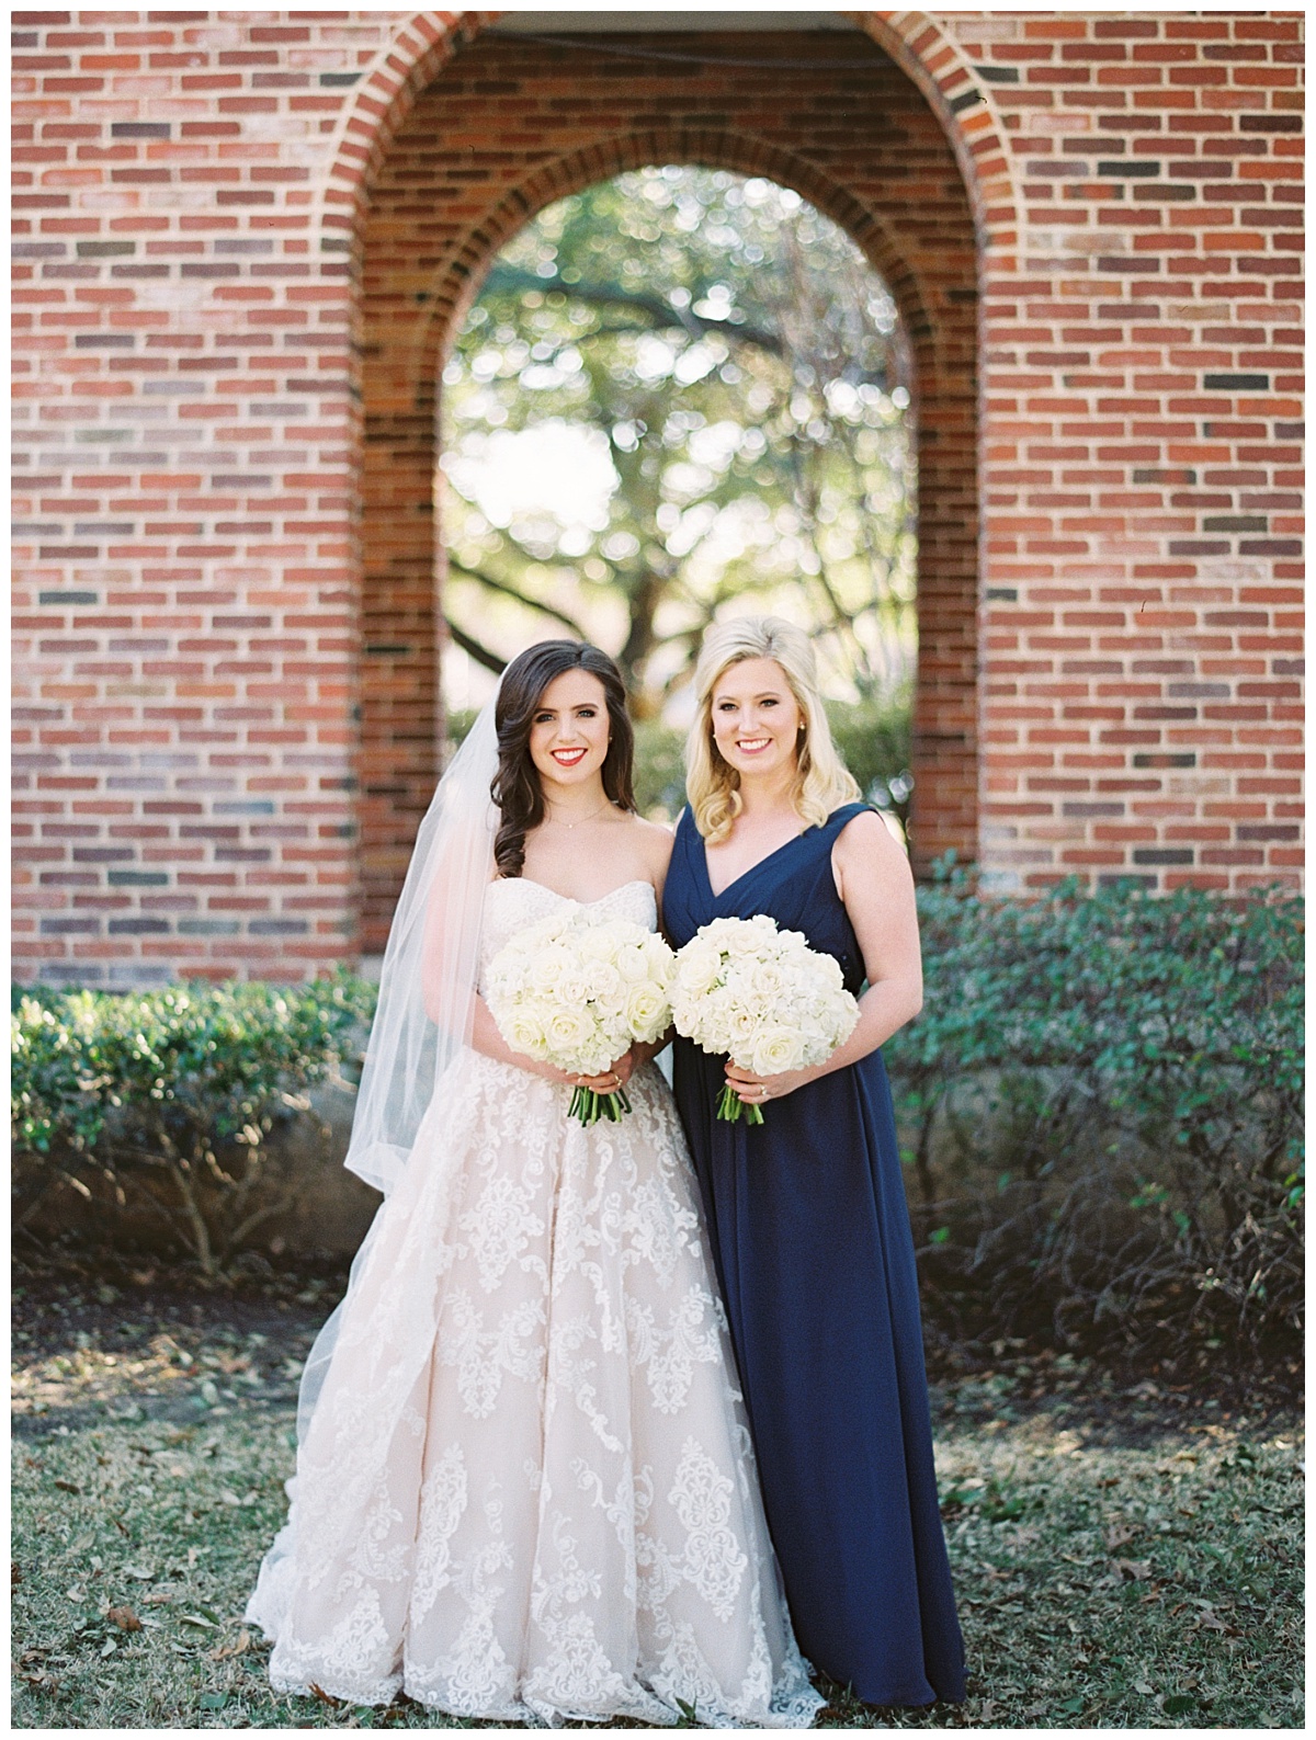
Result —
M602 684L611 736L602 764L604 792L618 809L635 809L630 783L635 733L627 719L621 672L606 652L585 640L541 640L527 647L503 672L494 706L498 773L489 795L503 816L494 835L494 863L503 877L520 875L526 867L526 835L543 821L543 790L529 755L529 734L543 691L567 670L585 670Z

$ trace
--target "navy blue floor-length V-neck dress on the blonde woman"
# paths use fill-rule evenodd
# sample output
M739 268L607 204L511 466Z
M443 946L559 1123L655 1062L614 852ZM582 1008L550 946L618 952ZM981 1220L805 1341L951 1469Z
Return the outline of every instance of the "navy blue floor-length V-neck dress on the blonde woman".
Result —
M766 912L863 959L832 846L863 804L771 853L721 894L686 811L663 914L675 947ZM715 1117L724 1060L675 1046L675 1098L703 1192L790 1616L816 1669L867 1703L964 1696L964 1646L937 1507L917 1274L881 1051L764 1107Z

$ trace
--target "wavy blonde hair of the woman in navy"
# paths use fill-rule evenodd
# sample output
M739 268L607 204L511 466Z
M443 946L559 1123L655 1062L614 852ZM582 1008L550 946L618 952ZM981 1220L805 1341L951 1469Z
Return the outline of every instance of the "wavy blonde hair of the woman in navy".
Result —
M804 729L790 797L801 820L822 826L834 809L860 797L855 776L832 743L809 637L782 616L736 616L719 623L703 642L695 666L698 712L686 740L686 797L695 826L712 846L728 837L742 809L740 774L714 746L712 698L722 672L747 658L780 665L799 706Z

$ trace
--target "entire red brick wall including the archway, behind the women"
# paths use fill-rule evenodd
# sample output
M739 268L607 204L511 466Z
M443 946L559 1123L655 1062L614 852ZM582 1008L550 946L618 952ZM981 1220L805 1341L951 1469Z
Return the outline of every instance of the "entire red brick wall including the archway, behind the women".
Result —
M816 40L881 103L628 71L618 117L613 68L545 56L550 125L467 90L458 137L439 90L527 50L446 71L456 14L14 14L19 976L315 971L359 947L364 854L378 924L437 729L433 376L390 235L432 224L437 355L460 270L592 144L642 160L637 113L776 162L924 322L923 839L977 825L1003 889L1297 877L1299 14L853 16L881 52ZM407 218L425 117L440 209Z

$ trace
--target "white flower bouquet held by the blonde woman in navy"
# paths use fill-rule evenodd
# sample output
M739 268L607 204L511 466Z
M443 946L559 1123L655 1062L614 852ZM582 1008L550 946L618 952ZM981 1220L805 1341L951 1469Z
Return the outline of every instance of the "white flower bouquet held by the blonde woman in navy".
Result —
M858 1004L832 955L759 914L714 919L677 952L672 1020L702 1051L755 1075L780 1075L822 1063L849 1039ZM729 1082L717 1115L762 1122L757 1105L745 1105Z

